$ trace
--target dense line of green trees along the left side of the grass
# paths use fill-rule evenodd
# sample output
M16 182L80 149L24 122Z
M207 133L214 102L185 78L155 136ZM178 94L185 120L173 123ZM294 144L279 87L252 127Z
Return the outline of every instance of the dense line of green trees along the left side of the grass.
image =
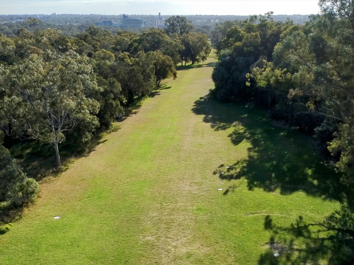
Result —
M51 28L21 28L13 38L0 33L0 210L32 202L39 191L11 157L13 142L52 145L61 167L61 147L84 151L161 80L175 79L181 60L206 59L206 35L183 17L169 22L166 31L115 35L95 26L70 37Z

